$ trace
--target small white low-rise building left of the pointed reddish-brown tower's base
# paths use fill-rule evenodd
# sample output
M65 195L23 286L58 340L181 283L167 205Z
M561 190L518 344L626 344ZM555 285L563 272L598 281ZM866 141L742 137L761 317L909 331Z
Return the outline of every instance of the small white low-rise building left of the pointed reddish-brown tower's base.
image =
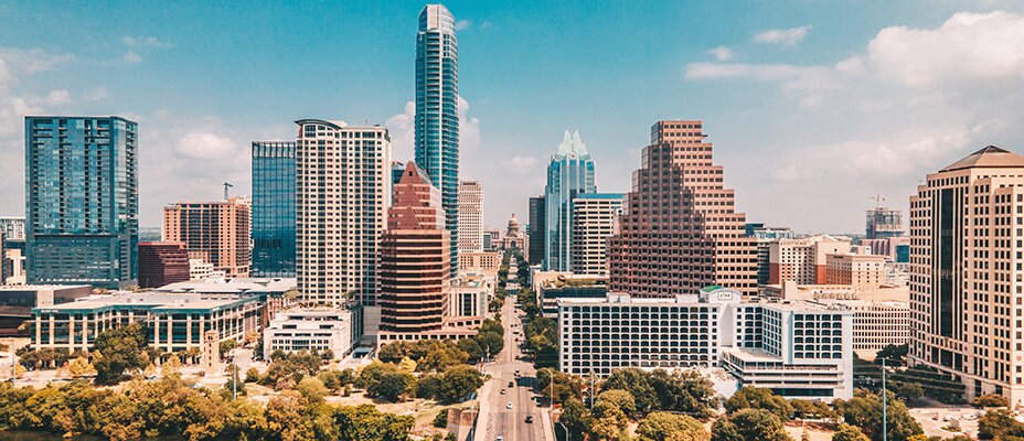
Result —
M263 356L275 351L330 351L334 358L352 352L362 324L353 310L288 310L275 315L263 333Z

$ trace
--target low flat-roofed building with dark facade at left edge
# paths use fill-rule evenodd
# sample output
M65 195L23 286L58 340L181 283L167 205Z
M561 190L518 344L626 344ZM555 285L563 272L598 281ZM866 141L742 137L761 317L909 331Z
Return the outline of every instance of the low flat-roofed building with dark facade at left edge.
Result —
M73 302L93 293L93 287L79 286L0 286L0 337L19 335L19 327L32 319L33 308Z

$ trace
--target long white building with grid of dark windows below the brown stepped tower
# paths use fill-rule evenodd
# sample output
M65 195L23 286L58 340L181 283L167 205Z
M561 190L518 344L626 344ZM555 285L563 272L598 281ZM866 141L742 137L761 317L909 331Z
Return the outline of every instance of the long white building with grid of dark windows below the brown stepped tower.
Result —
M737 290L558 300L558 368L723 367L740 386L787 398L853 396L853 312L812 302L744 302ZM794 381L800 378L800 381Z

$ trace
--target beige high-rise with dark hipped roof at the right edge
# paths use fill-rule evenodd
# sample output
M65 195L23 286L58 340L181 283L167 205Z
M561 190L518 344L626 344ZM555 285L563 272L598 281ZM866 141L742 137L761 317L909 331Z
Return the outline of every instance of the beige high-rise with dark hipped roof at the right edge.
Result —
M984 149L910 197L910 361L1024 404L1024 157Z

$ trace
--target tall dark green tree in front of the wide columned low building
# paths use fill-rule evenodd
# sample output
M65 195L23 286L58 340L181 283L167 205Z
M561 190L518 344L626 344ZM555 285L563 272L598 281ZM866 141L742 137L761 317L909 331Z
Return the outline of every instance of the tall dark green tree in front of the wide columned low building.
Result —
M139 323L114 327L99 333L93 348L96 359L96 383L110 385L120 383L125 375L140 372L149 365L146 330Z

